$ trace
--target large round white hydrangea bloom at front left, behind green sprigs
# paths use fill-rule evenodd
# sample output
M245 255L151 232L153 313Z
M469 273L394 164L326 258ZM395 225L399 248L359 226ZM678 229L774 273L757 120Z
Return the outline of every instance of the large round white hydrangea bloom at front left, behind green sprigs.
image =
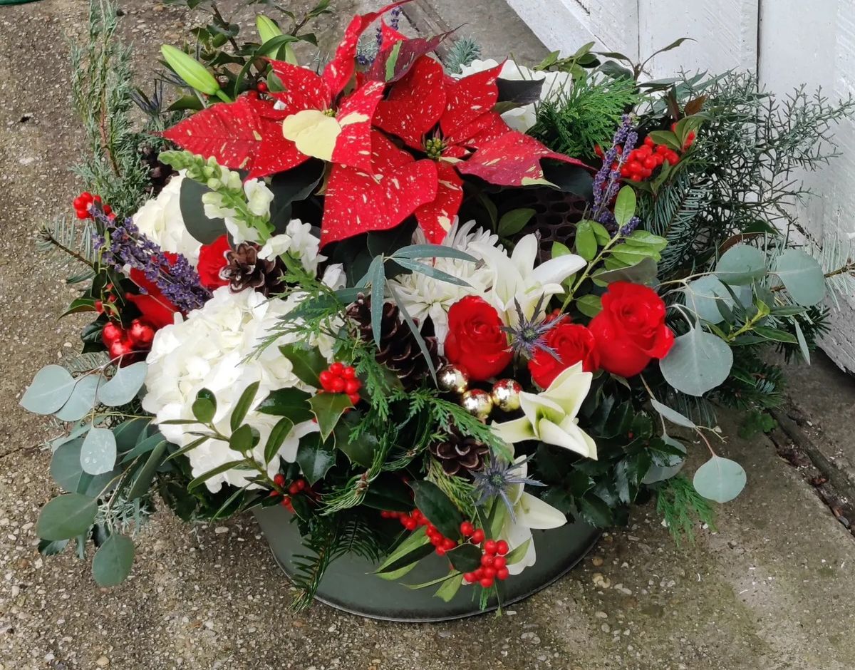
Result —
M215 426L222 435L229 436L234 403L252 382L260 382L254 406L277 388L313 390L300 382L292 371L291 362L279 351L279 345L297 341L298 334L283 336L259 355L250 355L277 320L298 305L298 301L299 296L267 299L255 291L231 293L227 287L218 288L213 297L201 309L190 312L185 321L158 330L146 359L149 368L144 410L154 414L158 424L169 419L192 419L193 400L202 388L207 388L216 398ZM321 353L332 358L331 342L316 344ZM278 419L253 410L246 415L245 421L261 435L253 451L259 463L264 462L264 445ZM195 439L188 434L193 430L192 424L161 424L159 428L169 442L181 447ZM280 456L288 461L295 460L299 438L315 430L317 425L311 421L294 426L280 448ZM226 442L218 440L203 442L188 452L187 457L194 477L243 458L229 449ZM274 459L268 465L268 474L273 477L276 471L278 462ZM229 470L211 477L206 483L216 492L223 483L243 486L252 476L251 471Z

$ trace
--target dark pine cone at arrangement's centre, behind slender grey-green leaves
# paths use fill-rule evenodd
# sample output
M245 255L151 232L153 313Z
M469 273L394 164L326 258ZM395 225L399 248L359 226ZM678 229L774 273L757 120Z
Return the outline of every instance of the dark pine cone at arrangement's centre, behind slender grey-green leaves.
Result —
M371 329L371 299L362 293L357 301L347 308L347 316L359 324L359 332L364 341L374 339ZM433 365L439 365L436 338L424 337ZM404 388L416 386L428 374L428 362L410 327L398 315L398 305L391 302L383 304L383 317L380 321L380 346L376 359L393 371Z

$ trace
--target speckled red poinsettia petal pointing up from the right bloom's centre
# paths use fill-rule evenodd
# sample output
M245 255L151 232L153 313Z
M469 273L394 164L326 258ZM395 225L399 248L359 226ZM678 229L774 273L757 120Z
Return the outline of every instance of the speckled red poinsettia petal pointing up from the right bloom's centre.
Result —
M377 105L374 126L397 135L413 149L422 149L424 134L445 110L445 73L430 56L422 56Z

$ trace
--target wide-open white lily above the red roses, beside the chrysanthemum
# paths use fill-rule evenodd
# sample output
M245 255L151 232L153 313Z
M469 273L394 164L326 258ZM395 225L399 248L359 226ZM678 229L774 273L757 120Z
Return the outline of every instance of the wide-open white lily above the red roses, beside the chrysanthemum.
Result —
M486 299L500 313L504 312L504 321L509 324L517 321L515 302L520 304L525 317L533 317L541 296L563 293L561 282L587 265L584 258L569 253L535 267L538 240L534 234L525 235L517 242L510 258L500 247L481 242L473 242L471 247L493 273L492 290Z

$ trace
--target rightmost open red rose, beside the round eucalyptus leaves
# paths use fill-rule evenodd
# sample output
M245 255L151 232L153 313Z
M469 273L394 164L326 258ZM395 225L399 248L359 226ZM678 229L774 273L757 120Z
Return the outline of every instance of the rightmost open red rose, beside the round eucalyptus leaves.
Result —
M630 282L609 284L603 311L588 328L597 340L600 365L622 377L664 358L674 344L674 333L665 325L665 303L652 288Z

